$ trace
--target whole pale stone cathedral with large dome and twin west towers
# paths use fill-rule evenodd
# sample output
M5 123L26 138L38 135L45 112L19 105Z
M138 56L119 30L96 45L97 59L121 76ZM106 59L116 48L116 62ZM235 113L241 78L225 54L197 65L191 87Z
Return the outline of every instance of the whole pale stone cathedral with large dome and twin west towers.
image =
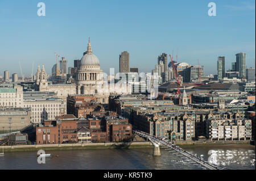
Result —
M36 72L36 84L39 91L56 92L57 98L61 98L64 102L68 95L84 94L94 95L98 103L108 104L109 94L130 94L131 85L112 85L108 84L108 78L104 78L103 70L100 69L100 62L96 55L92 53L92 46L89 43L87 51L81 58L79 70L77 70L76 83L71 84L50 84L47 82L47 74L38 67Z

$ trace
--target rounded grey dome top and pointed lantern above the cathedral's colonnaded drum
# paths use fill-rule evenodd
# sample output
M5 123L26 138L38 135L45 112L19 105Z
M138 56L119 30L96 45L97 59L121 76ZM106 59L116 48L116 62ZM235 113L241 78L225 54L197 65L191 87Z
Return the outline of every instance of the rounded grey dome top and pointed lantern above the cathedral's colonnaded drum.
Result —
M92 54L92 46L90 45L90 38L87 46L87 52L84 54L84 56L82 56L81 63L80 63L80 66L88 66L88 65L100 66L98 57Z

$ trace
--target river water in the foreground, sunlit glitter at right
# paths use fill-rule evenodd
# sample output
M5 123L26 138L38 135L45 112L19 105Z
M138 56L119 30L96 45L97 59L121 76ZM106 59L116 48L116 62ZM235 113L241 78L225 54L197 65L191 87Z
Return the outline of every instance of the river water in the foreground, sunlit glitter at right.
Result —
M215 145L185 148L224 169L255 169L255 147L251 145ZM39 164L37 151L6 152L0 157L0 169L202 169L161 148L161 156L153 157L153 149L84 149L48 150L52 158ZM59 157L56 157L56 156Z

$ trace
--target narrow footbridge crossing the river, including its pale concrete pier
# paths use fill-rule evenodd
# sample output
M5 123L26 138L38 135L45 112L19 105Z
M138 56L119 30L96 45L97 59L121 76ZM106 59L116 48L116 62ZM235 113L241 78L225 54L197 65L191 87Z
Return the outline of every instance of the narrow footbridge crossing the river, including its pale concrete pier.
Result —
M161 155L159 146L164 145L164 146L166 146L165 148L171 149L172 151L175 151L176 154L179 154L181 156L184 156L184 157L190 159L192 161L192 163L196 163L196 165L200 166L201 168L208 169L208 170L221 170L220 167L217 167L209 162L206 162L206 161L204 161L204 159L196 157L195 155L193 155L191 153L188 153L188 151L180 148L179 146L175 145L173 142L164 141L161 138L152 136L152 135L142 132L142 131L134 130L133 132L135 134L138 134L138 136L147 138L148 140L150 140L152 142L152 144L154 145L154 152L153 152L154 156Z

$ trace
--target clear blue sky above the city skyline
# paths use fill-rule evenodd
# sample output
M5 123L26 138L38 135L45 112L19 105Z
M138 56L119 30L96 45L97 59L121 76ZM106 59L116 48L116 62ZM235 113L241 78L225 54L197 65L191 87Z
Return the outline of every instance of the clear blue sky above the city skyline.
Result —
M38 16L38 3L46 16ZM216 16L208 16L208 3ZM235 54L246 52L247 68L254 67L255 1L0 1L0 75L4 70L25 75L44 64L48 74L55 52L68 60L81 58L88 37L101 69L119 70L119 54L130 53L130 67L151 72L159 54L178 54L178 62L205 66L217 73L217 57L226 69ZM176 59L176 58L175 58ZM168 57L168 61L170 58ZM115 71L115 72L116 72Z

